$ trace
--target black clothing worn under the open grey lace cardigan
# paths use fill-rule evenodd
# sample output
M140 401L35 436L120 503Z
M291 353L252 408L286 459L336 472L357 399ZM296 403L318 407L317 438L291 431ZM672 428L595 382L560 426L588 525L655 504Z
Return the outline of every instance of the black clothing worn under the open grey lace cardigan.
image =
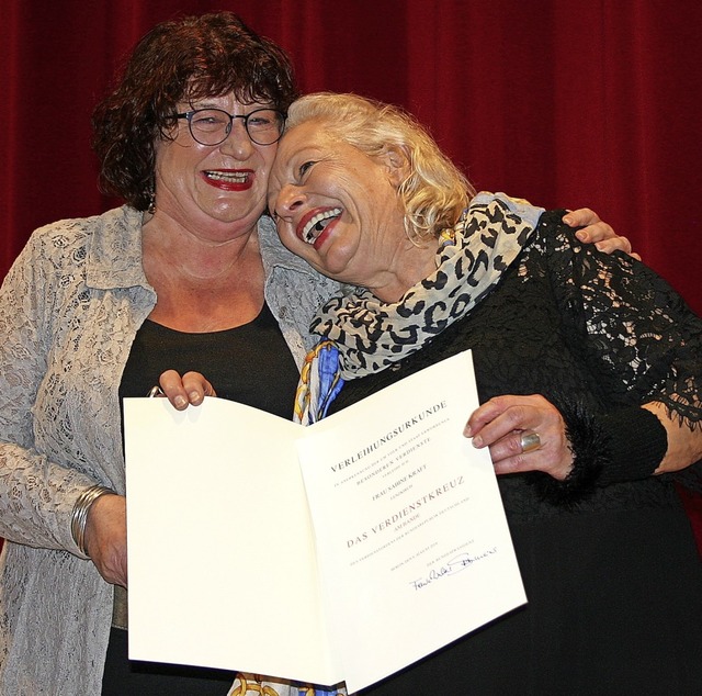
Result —
M292 418L298 372L267 304L249 324L206 334L178 332L147 319L122 375L120 403L125 396L146 396L160 374L171 369L181 375L201 372L217 396ZM102 694L214 696L225 694L234 678L228 671L129 661L126 631L113 628Z

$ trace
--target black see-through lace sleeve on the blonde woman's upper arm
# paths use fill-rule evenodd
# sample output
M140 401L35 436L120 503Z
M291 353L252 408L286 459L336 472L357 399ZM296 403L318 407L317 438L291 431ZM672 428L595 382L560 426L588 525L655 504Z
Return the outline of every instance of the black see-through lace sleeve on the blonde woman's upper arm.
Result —
M576 349L622 405L658 401L702 427L702 319L645 265L581 245L561 215L542 216L536 244L563 314L574 317Z

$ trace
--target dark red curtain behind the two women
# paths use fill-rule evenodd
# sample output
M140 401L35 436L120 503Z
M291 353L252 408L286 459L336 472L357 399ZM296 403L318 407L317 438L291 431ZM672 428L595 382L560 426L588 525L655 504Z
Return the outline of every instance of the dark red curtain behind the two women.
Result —
M405 105L480 189L589 205L702 313L699 0L3 0L0 277L99 213L91 110L156 22L233 10L305 91Z

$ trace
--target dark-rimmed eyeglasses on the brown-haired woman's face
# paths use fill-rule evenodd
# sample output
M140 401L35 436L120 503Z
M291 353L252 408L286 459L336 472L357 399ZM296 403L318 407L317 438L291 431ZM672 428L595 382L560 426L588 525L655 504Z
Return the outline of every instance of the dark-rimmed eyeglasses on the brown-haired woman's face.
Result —
M195 109L177 113L176 119L188 119L193 138L201 145L219 145L231 133L235 119L244 121L244 127L257 145L273 145L281 139L285 114L275 109L257 109L246 116L236 116L222 109Z

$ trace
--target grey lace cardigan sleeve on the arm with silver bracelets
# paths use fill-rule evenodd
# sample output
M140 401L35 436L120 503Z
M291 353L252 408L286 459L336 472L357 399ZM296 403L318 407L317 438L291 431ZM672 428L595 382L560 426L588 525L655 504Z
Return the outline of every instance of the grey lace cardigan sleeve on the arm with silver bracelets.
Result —
M0 291L0 536L77 552L70 512L78 493L94 481L48 461L34 447L34 402L59 294L41 248L35 235Z

